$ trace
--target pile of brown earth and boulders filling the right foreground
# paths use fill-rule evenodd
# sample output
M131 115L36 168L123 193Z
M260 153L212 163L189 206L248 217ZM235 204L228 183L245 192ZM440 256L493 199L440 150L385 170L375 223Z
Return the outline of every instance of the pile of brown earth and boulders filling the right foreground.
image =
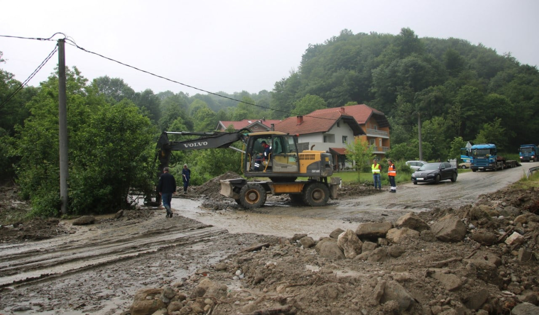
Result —
M539 190L409 213L328 237L268 237L165 288L132 315L539 314Z

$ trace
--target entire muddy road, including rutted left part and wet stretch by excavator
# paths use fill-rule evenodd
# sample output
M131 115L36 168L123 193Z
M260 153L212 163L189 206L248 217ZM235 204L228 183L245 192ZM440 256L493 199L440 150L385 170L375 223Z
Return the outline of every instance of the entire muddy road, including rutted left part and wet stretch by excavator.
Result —
M63 221L67 235L0 244L0 313L120 314L137 289L182 282L269 235L305 233L317 239L336 228L355 229L358 222L459 207L514 183L533 166L539 163L462 173L455 183L401 184L396 194L347 197L320 208L293 207L275 197L252 211L239 210L234 201L225 210L208 211L199 208L199 200L174 198L171 219L163 209L142 208L117 220L100 217L90 226Z

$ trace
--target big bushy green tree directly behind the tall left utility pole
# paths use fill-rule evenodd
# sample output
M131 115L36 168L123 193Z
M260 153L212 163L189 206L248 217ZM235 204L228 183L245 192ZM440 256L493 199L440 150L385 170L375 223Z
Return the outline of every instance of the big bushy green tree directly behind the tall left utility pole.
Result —
M130 190L149 191L155 129L125 100L106 103L77 68L66 69L70 213L105 213L129 206ZM18 184L32 214L59 214L58 79L42 82L18 128Z

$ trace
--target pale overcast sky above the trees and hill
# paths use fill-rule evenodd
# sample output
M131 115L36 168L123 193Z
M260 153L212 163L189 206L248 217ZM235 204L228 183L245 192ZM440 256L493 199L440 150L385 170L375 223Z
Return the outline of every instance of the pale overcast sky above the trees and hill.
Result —
M539 1L196 0L4 1L0 35L63 32L88 51L210 92L272 90L300 65L309 44L341 30L461 38L539 65ZM55 40L61 38L57 35ZM0 68L24 81L56 41L0 37ZM53 72L58 54L30 82ZM66 65L87 79L121 78L136 92L199 91L66 45Z

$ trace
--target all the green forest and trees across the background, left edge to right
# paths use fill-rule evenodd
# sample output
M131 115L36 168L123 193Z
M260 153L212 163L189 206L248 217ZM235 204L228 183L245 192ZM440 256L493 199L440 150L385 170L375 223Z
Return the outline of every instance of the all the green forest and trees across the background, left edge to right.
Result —
M19 185L33 215L57 216L57 74L23 87L2 69L9 56L1 50L0 181ZM426 160L455 158L466 141L506 152L539 142L537 67L462 39L418 38L408 28L397 35L342 30L306 47L295 71L258 93L135 92L121 78L89 81L76 65L66 73L72 214L116 211L132 203L134 192L151 193L160 133L211 131L218 121L284 119L364 103L388 117L388 156L397 160L419 157L419 120ZM175 163L189 165L194 185L240 173L239 160L233 150L174 154Z

